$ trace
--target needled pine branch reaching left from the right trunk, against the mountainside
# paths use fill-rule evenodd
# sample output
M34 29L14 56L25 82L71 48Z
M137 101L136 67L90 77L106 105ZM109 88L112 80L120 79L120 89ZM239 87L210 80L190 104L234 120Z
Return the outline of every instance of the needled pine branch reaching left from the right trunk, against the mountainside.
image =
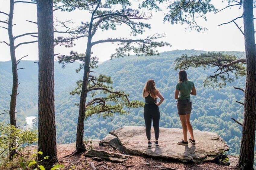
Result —
M238 58L235 55L208 52L206 54L187 56L183 54L175 60L175 69L188 69L203 67L204 69L215 67L216 71L213 75L208 76L204 80L205 86L217 85L222 88L227 82L233 82L234 78L230 73L234 73L234 77L246 75L245 58Z

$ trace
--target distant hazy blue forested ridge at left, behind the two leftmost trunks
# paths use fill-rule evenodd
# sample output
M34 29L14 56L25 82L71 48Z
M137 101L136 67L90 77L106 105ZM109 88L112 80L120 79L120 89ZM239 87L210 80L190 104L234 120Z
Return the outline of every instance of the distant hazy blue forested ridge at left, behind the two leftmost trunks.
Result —
M38 64L37 61L22 60L18 68L26 68L18 70L18 97L17 97L17 121L18 126L25 125L26 116L37 115L38 103ZM74 82L82 76L82 73L75 73L75 69L79 63L68 65L62 69L58 62L55 62L55 95L62 91L66 91L70 86L74 86ZM0 113L3 110L9 110L10 94L12 88L12 71L11 61L0 62ZM73 84L72 84L73 83ZM8 121L9 115L0 116L0 122Z

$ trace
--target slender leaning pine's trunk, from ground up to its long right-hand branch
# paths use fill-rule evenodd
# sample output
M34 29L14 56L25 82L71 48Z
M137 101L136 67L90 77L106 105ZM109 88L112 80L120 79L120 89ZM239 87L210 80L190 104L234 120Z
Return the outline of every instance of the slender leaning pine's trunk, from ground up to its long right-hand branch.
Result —
M85 104L87 98L87 86L88 86L88 76L90 73L90 59L91 59L91 37L88 37L86 54L85 54L85 66L84 66L84 76L82 83L82 91L80 96L79 103L79 114L78 114L78 122L77 122L77 131L76 131L76 146L75 151L77 153L85 152L85 144L84 144L84 123L85 123Z

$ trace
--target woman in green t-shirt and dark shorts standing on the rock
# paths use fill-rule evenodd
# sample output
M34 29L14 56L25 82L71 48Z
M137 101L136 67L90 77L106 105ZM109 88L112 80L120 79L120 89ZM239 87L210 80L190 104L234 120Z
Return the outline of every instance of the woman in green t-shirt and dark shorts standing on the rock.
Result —
M192 101L190 101L190 94L197 95L195 85L192 81L187 79L187 72L185 70L180 70L178 83L176 85L174 98L177 99L177 109L178 115L181 119L181 125L183 130L183 137L178 145L188 145L187 142L187 130L189 131L191 137L189 141L192 144L196 144L193 134L193 128L190 124L190 113L192 110Z

